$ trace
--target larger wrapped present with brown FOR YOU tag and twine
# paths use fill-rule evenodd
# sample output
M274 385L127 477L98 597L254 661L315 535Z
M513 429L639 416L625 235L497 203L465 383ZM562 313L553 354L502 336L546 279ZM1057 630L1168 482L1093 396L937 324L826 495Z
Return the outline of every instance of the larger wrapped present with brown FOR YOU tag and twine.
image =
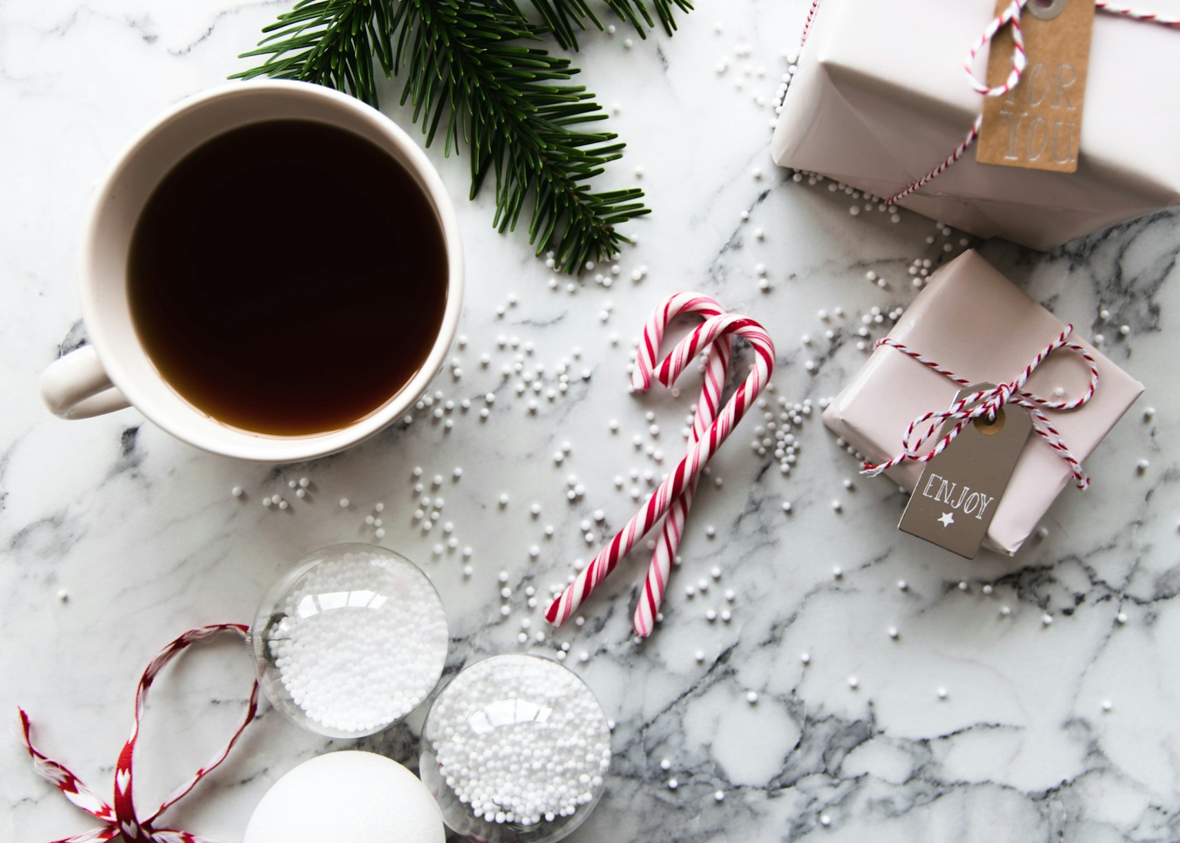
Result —
M774 161L1037 249L1180 204L1180 0L1145 2L815 0Z

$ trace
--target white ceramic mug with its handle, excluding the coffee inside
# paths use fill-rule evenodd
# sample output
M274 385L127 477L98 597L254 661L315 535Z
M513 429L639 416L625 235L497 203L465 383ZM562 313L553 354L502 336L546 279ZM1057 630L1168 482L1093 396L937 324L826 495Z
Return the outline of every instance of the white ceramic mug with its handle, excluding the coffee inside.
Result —
M330 123L386 150L430 197L446 242L442 324L426 362L380 409L340 430L267 436L230 427L179 396L156 371L136 334L127 301L127 251L139 211L184 156L215 136L250 123L307 119ZM41 397L61 418L80 419L133 406L162 429L228 457L296 462L334 453L402 416L441 368L463 305L463 246L454 209L426 155L389 118L343 93L299 81L260 80L215 87L160 116L119 156L100 183L86 226L81 312L90 345L54 361Z

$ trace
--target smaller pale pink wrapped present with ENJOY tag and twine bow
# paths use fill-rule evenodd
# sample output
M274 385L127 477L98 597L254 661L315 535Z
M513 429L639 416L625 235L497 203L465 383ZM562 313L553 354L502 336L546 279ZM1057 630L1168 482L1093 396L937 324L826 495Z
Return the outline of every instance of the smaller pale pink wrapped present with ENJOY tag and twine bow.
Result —
M824 423L911 490L900 528L1009 556L1143 385L975 251L931 275Z

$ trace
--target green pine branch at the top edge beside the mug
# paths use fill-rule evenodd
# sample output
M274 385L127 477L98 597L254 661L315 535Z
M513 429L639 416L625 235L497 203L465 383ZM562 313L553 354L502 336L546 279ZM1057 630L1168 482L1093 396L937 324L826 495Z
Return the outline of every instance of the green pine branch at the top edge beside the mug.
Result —
M532 2L550 27L542 6L559 15L553 20L582 26L585 14L597 22L584 0ZM651 25L643 0L607 2L641 34L640 20ZM670 2L690 8L653 0L666 28L675 27ZM578 70L533 46L537 33L514 0L301 0L243 54L263 63L231 78L300 79L376 106L375 58L387 78L404 76L401 102L413 106L427 145L441 132L446 155L460 140L471 146L472 197L494 175L492 224L514 229L531 205L529 242L573 273L614 255L629 242L616 227L649 209L637 188L591 191L624 144L585 126L607 115L584 86L564 84ZM572 30L555 28L555 37L573 44Z

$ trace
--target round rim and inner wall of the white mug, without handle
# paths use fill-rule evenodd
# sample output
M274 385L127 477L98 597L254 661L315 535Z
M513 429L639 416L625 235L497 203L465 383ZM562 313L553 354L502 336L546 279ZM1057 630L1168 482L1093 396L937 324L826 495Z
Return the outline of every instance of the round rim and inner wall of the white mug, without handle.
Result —
M302 436L270 436L247 431L219 422L210 413L198 409L160 375L155 364L151 362L151 355L148 354L132 325L130 329L133 334L132 339L136 353L146 358L149 364L151 364L152 377L156 381L153 386L158 385L177 394L190 416L199 420L197 424L177 423L176 414L171 410L157 406L151 394L151 388L144 386L124 366L124 354L114 351L114 339L112 336L114 332L122 328L107 325L103 318L104 305L100 301L100 285L97 277L96 264L99 249L99 227L104 221L104 207L110 200L109 194L112 184L114 184L129 165L132 165L136 156L142 152L148 142L163 126L186 112L204 107L211 100L230 97L267 96L276 91L296 93L300 97L322 98L330 102L334 106L354 112L355 116L379 132L384 139L388 140L400 155L405 156L404 159L399 161L399 164L406 166L413 174L415 181L430 197L438 215L439 228L445 242L447 277L446 305L442 320L425 362L385 404L345 427ZM266 118L260 122L266 122ZM211 137L216 137L216 135ZM177 156L170 166L175 166L183 157L183 155ZM83 321L86 326L90 344L94 347L99 362L106 371L111 383L126 397L135 410L170 436L203 451L238 459L267 463L302 462L336 453L375 436L405 414L419 400L434 375L442 368L451 345L454 341L454 335L459 327L459 318L463 312L464 259L458 218L455 217L454 207L446 192L442 179L430 158L427 158L426 152L413 142L406 130L366 103L329 87L287 79L255 79L244 83L231 81L217 85L185 97L152 119L123 148L105 175L99 179L86 217L81 260L83 266L79 285ZM126 283L125 276L123 283ZM205 424L216 425L221 436L212 436L211 430L206 431L204 429ZM227 438L225 433L230 433L231 436Z

